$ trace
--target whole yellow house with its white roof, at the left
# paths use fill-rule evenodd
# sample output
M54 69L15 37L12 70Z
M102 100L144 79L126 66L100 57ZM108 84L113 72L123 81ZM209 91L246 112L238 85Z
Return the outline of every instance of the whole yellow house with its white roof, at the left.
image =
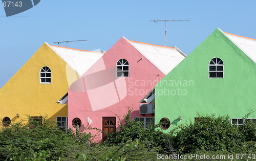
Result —
M56 101L103 54L42 44L0 89L0 125L46 114L59 126L66 124L68 107Z

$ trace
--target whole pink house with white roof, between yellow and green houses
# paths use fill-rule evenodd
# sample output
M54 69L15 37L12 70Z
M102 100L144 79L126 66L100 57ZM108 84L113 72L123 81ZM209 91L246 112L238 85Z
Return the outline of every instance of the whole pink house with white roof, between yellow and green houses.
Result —
M177 47L120 38L70 86L68 126L91 125L112 132L118 126L117 116L122 117L127 107L134 109L131 119L154 124L154 105L143 113L139 101L185 57Z

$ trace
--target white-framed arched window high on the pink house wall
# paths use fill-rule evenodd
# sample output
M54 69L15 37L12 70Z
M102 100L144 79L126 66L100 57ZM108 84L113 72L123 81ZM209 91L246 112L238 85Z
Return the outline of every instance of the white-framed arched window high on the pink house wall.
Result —
M125 59L120 59L116 63L116 77L129 77L129 63Z

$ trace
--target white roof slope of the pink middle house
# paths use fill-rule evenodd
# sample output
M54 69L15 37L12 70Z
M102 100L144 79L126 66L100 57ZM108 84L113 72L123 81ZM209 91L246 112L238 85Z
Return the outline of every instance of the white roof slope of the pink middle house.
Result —
M127 41L150 60L164 75L172 71L186 57L177 47L172 48L145 42Z

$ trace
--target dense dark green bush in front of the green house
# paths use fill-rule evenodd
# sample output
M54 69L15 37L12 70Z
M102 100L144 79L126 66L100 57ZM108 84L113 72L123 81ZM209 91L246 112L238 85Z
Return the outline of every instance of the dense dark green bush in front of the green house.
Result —
M214 114L199 118L195 123L180 125L171 131L173 147L178 152L238 152L238 148L246 150L246 141L255 141L256 128L251 122L243 126L231 125L228 116L216 118Z

